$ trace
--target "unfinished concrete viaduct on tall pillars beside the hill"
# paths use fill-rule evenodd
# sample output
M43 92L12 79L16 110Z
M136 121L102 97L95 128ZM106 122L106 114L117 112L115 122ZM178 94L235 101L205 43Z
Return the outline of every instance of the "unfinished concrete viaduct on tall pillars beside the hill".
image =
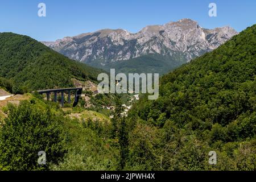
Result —
M38 90L39 94L46 93L47 101L50 99L50 95L54 93L54 101L57 102L57 93L61 93L61 107L64 106L64 92L68 92L68 104L71 103L71 91L75 91L75 102L73 107L75 107L79 102L79 97L82 94L82 88L64 88L64 89L48 89L48 90Z

